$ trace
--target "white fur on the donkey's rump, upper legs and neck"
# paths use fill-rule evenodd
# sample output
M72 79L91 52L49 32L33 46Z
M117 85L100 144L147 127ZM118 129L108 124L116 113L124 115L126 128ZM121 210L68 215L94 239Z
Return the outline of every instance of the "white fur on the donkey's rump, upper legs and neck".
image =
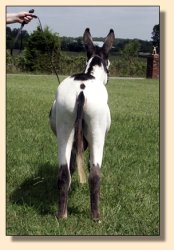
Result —
M91 60L89 60L85 72L87 72ZM99 167L102 165L105 135L111 124L108 94L105 87L107 73L104 71L103 65L95 65L91 74L95 79L75 81L72 77L68 77L58 86L50 123L54 133L57 134L59 165L70 166L76 119L76 99L81 91L85 96L84 136L89 144L90 164L91 166L98 164ZM84 90L80 88L82 83L85 84Z

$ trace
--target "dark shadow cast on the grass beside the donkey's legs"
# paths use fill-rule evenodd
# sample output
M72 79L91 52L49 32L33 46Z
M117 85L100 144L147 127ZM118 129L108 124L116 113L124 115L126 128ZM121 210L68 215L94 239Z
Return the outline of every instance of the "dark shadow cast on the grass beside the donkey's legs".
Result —
M57 189L58 168L49 162L40 165L35 176L26 179L11 195L10 202L19 206L27 206L35 209L38 214L55 214L57 211L58 189ZM81 214L82 212L71 202L71 195L78 189L78 183L71 184L69 192L70 204L69 215ZM78 192L78 190L77 190Z

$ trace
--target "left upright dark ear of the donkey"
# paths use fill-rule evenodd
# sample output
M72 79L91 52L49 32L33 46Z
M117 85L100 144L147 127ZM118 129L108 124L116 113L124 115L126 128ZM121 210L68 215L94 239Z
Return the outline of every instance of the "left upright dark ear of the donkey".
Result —
M85 45L85 49L87 51L87 57L89 59L95 51L95 47L92 41L92 36L91 36L89 28L86 28L83 34L83 43Z

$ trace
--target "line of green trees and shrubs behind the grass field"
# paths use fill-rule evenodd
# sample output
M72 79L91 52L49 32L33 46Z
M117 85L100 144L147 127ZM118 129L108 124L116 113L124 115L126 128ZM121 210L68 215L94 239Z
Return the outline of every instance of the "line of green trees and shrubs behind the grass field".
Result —
M138 55L140 51L151 53L153 45L159 47L158 26L153 28L152 41L116 39L111 51L111 75L146 74L146 60ZM14 46L18 31L6 28L7 72L53 73L52 65L59 74L72 74L77 69L83 71L86 56L82 37L60 37L49 27L43 31L37 27L31 34L22 30ZM96 37L93 40L104 41L104 38Z

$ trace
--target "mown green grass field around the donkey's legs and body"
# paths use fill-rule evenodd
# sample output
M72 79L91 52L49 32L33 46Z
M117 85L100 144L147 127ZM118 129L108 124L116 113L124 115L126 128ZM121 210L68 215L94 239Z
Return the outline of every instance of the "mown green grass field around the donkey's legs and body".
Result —
M73 176L58 221L57 145L48 114L55 76L7 76L7 235L159 235L159 82L110 80L112 114L101 183L101 224L88 185Z

